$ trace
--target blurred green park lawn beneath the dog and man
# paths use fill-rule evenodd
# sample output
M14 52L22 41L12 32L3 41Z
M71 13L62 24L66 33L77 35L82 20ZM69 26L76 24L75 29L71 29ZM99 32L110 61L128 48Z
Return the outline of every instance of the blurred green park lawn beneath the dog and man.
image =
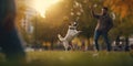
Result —
M133 66L133 52L28 52L22 66Z

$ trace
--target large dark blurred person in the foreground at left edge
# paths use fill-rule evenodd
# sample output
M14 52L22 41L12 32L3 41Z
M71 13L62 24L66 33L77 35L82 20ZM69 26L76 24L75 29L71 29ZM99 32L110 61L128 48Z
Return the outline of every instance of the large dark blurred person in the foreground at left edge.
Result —
M16 14L14 0L0 0L0 47L7 62L23 61L25 56L14 25Z

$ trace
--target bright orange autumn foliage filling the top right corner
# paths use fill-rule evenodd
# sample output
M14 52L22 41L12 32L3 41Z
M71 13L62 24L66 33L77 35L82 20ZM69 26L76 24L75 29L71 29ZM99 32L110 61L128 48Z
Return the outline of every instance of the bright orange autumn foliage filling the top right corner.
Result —
M104 6L108 6L121 18L133 15L133 0L105 0Z

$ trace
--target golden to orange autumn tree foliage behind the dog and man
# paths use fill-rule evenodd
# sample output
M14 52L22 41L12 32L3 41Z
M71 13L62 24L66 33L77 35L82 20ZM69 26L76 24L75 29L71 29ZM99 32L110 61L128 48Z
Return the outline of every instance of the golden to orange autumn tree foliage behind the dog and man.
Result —
M18 0L19 1L19 0ZM82 31L79 36L92 38L96 20L91 15L91 9L94 7L95 12L100 13L103 6L110 9L110 13L114 12L114 28L110 32L110 36L114 40L119 34L132 35L133 25L133 0L63 0L58 4L51 6L47 12L45 18L41 18L38 13L32 16L31 22L34 26L32 33L32 41L39 43L42 42L57 42L58 34L65 35L68 25L71 22L78 22L78 30ZM24 10L28 8L23 4L18 4L20 21L24 14ZM28 34L21 29L24 40L29 43Z

